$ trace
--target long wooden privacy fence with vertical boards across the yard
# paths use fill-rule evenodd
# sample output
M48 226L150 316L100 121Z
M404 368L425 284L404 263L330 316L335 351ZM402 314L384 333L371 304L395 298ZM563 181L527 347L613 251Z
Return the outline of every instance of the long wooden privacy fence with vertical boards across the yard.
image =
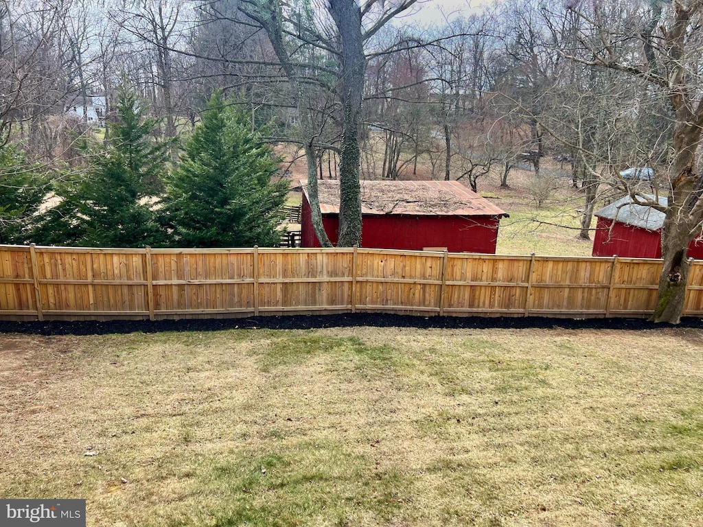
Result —
M375 311L645 317L662 263L385 249L0 246L6 320ZM685 315L703 315L703 261Z

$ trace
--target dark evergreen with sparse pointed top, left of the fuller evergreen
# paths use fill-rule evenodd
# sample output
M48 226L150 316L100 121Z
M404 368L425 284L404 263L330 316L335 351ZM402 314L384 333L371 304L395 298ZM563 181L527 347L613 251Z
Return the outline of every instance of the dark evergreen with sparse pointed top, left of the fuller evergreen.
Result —
M93 152L84 174L57 188L62 201L37 230L43 243L143 247L162 242L150 198L162 187L168 161L168 144L153 138L158 122L144 115L134 93L121 89L117 120L108 126L107 150Z

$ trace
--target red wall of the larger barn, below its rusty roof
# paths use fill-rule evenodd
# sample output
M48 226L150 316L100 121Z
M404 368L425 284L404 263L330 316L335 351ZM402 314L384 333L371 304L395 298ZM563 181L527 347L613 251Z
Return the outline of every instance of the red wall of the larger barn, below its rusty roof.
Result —
M365 214L361 245L373 249L421 250L446 247L450 252L495 254L498 219L491 216L412 216ZM336 214L323 215L330 241L337 243L339 220ZM302 247L320 247L312 228L310 205L303 196Z

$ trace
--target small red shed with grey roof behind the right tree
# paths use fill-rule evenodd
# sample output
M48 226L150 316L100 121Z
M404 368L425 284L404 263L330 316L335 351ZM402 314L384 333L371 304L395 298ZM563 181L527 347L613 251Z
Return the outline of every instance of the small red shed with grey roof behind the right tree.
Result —
M654 196L650 196L652 200ZM659 197L666 205L666 197ZM603 207L593 237L593 256L624 258L661 258L664 212L634 204L629 196ZM703 238L690 242L688 256L703 259Z

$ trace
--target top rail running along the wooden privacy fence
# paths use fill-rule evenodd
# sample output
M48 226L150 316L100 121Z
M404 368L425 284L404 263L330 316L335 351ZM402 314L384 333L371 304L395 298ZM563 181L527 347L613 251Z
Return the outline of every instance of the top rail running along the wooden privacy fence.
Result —
M35 245L37 252L56 253L91 253L91 254L146 254L146 247L128 249L125 247L60 247L51 245ZM30 245L1 245L0 250L29 252ZM319 253L339 253L351 254L353 247L257 247L259 254L319 254ZM356 249L359 254L396 254L405 256L430 256L439 258L444 256L444 251L411 251L405 249L373 249L359 247ZM254 247L222 247L206 249L154 249L150 248L151 254L252 254ZM536 261L602 261L612 262L615 256L557 256L557 255L537 255L537 254L480 254L471 252L449 252L449 257L453 259L498 259L498 260L529 260L534 256ZM625 258L617 256L618 263L651 263L662 264L662 259L654 258ZM703 260L691 259L691 265L702 266Z

